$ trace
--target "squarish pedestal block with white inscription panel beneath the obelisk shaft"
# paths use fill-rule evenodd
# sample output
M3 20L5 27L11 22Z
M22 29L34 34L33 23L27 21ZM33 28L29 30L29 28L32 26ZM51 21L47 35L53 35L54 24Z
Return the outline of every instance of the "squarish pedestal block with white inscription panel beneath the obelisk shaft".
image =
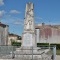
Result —
M22 47L36 47L36 40L35 40L35 34L34 33L23 33L22 37Z

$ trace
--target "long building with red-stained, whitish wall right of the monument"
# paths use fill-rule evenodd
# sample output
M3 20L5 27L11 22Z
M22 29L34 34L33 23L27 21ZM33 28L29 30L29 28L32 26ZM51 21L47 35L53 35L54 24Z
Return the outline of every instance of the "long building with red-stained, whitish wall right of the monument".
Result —
M60 43L60 25L36 25L37 43Z

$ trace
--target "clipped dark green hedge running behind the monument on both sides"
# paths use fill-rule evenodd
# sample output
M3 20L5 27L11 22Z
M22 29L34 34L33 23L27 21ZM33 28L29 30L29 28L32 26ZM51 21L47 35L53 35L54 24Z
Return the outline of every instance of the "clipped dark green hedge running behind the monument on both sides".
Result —
M11 43L12 46L21 46L20 42L12 42ZM50 46L56 46L56 49L60 49L60 44L50 44ZM49 47L49 43L37 43L37 47Z

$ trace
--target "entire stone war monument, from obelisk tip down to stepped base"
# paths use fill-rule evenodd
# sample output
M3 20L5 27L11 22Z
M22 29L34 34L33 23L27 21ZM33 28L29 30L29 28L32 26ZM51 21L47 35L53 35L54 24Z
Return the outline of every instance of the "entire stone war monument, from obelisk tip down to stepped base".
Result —
M23 60L25 60L25 58L27 58L27 60L29 59L40 60L41 58L45 57L44 55L46 55L45 53L48 51L49 49L42 50L41 48L37 47L37 42L35 39L34 5L33 3L29 2L26 4L26 10L25 10L22 46L16 49L15 57L20 55L19 58L20 59L23 58Z

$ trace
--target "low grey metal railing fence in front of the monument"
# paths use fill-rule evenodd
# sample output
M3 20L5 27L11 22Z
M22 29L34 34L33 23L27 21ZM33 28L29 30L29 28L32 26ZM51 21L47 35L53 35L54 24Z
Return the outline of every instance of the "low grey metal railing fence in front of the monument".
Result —
M0 59L56 60L56 46L37 48L0 46Z

